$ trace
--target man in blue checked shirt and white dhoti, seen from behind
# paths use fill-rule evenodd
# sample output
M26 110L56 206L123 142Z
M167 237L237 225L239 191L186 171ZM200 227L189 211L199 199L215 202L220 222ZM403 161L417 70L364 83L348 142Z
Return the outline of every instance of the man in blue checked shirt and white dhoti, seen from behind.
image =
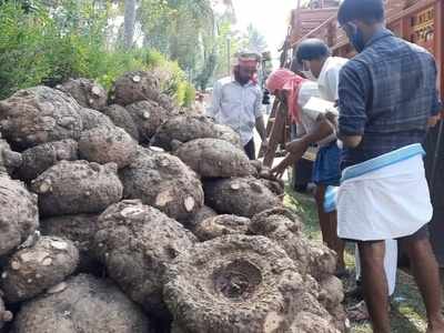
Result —
M337 133L344 144L339 236L357 242L374 332L391 331L384 240L397 239L425 302L427 332L444 333L421 145L440 110L435 61L384 28L383 0L344 0L337 19L359 52L342 68L339 83Z

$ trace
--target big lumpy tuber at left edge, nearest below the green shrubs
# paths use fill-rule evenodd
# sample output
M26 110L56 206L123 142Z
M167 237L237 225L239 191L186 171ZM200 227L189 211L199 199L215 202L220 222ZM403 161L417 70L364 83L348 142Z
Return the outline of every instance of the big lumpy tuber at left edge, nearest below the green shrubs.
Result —
M79 139L80 105L59 90L34 87L0 102L0 131L20 149L63 139Z

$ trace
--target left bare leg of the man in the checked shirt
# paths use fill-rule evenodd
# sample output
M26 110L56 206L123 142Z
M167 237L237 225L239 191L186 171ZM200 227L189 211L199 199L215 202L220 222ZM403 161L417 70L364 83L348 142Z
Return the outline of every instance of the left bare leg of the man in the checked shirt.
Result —
M364 300L374 333L390 333L389 287L384 271L385 242L359 242Z

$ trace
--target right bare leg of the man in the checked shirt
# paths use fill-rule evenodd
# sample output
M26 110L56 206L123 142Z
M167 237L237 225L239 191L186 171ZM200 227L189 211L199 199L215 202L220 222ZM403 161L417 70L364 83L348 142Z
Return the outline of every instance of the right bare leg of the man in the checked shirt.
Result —
M426 230L422 229L401 242L408 255L413 275L427 310L427 332L444 333L440 270Z

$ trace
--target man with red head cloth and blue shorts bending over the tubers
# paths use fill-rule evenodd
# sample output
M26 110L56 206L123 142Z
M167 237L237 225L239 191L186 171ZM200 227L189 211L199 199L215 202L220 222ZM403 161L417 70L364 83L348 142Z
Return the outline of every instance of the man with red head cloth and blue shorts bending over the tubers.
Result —
M336 135L331 128L329 129L329 122L322 112L306 112L303 108L311 97L320 95L317 83L304 80L292 71L281 69L270 75L266 81L266 89L286 103L289 113L297 123L297 129L301 129L301 131L299 130L300 139L287 144L289 154L279 165L272 169L272 173L281 176L287 167L294 165L302 158L311 144L317 143L320 147L315 162L317 169L314 168L313 172L313 181L320 189L315 195L317 213L323 241L337 253L337 273L341 275L345 270L343 242L337 238L336 226L330 216L331 214L326 213L323 208L326 186L337 185L341 179ZM329 168L329 163L333 168Z

